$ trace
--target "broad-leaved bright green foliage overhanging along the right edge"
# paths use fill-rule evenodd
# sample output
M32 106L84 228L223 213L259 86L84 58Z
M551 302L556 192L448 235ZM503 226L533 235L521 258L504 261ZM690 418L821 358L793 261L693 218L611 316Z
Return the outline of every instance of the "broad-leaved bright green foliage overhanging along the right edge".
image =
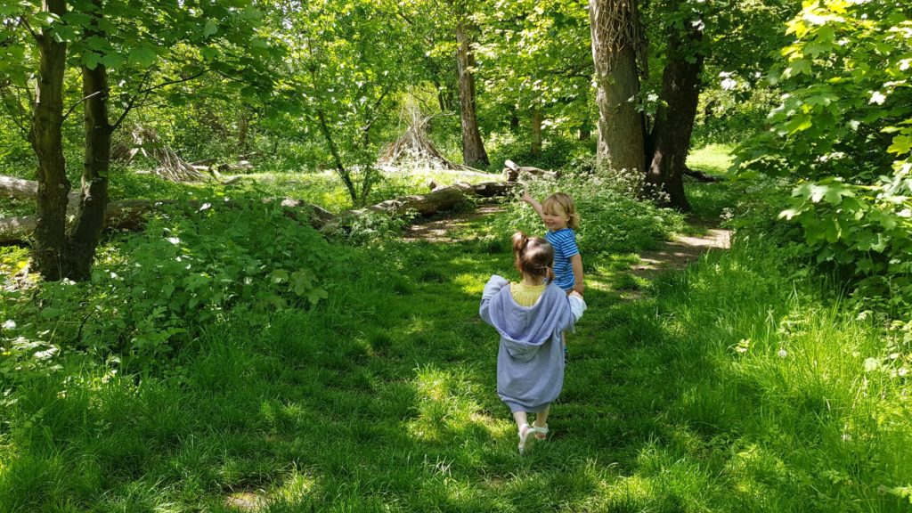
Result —
M804 2L770 79L782 103L738 151L743 175L797 180L781 217L857 280L865 306L912 306L912 21L899 0Z

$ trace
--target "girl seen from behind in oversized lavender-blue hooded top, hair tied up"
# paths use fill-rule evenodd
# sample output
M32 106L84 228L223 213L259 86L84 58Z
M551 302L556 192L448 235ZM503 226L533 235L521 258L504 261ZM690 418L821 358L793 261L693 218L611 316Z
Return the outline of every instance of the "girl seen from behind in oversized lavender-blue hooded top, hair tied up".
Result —
M479 313L501 335L497 395L513 412L523 454L536 438L547 439L551 403L564 387L563 334L583 317L586 301L554 284L554 248L544 238L514 234L513 260L522 280L492 276Z

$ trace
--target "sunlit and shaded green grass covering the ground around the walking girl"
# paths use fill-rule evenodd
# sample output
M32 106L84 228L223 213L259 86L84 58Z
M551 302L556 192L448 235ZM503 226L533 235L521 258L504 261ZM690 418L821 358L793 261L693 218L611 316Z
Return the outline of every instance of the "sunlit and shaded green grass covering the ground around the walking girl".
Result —
M882 331L763 246L654 284L587 258L553 439L518 455L478 318L487 277L515 277L492 225L364 248L316 308L229 317L164 372L24 378L0 393L0 511L910 508L907 382L865 372Z

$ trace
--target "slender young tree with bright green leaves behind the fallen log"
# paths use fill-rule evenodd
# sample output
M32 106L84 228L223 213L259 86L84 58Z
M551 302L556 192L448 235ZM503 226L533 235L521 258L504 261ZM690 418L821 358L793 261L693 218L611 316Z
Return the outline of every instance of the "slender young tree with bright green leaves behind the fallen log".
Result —
M287 49L280 115L299 137L325 143L323 163L363 204L378 180L378 134L386 127L420 55L396 5L358 1L282 5L273 14ZM290 127L286 127L286 130ZM303 132L303 133L302 133Z

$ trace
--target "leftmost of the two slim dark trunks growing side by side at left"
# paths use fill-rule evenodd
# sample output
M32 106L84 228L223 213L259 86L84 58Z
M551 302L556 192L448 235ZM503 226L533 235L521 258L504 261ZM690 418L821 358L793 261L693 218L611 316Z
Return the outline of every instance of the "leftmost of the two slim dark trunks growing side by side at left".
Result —
M44 10L67 14L65 0L45 0ZM32 259L37 271L49 281L63 277L63 253L67 235L67 163L63 156L63 76L67 67L67 43L57 41L52 31L37 35L38 76L32 130L29 140L38 165L35 245Z

